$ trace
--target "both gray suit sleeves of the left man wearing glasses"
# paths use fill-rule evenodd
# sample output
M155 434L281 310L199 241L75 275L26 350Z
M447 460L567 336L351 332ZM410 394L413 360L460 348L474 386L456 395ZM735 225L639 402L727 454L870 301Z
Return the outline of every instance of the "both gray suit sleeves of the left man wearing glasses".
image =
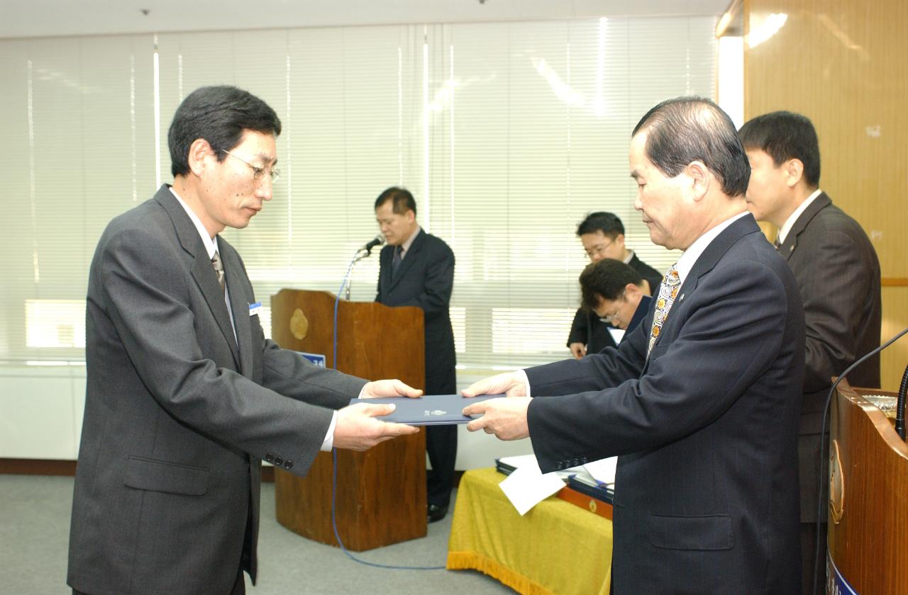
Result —
M115 235L98 261L108 316L143 384L173 417L253 456L277 451L305 474L331 423L329 409L287 398L212 361L227 345L212 312L190 284L186 264L153 233ZM185 256L185 255L183 255ZM307 366L301 357L263 350L266 384L296 398L337 406L359 394L362 380ZM225 360L226 361L226 360Z

